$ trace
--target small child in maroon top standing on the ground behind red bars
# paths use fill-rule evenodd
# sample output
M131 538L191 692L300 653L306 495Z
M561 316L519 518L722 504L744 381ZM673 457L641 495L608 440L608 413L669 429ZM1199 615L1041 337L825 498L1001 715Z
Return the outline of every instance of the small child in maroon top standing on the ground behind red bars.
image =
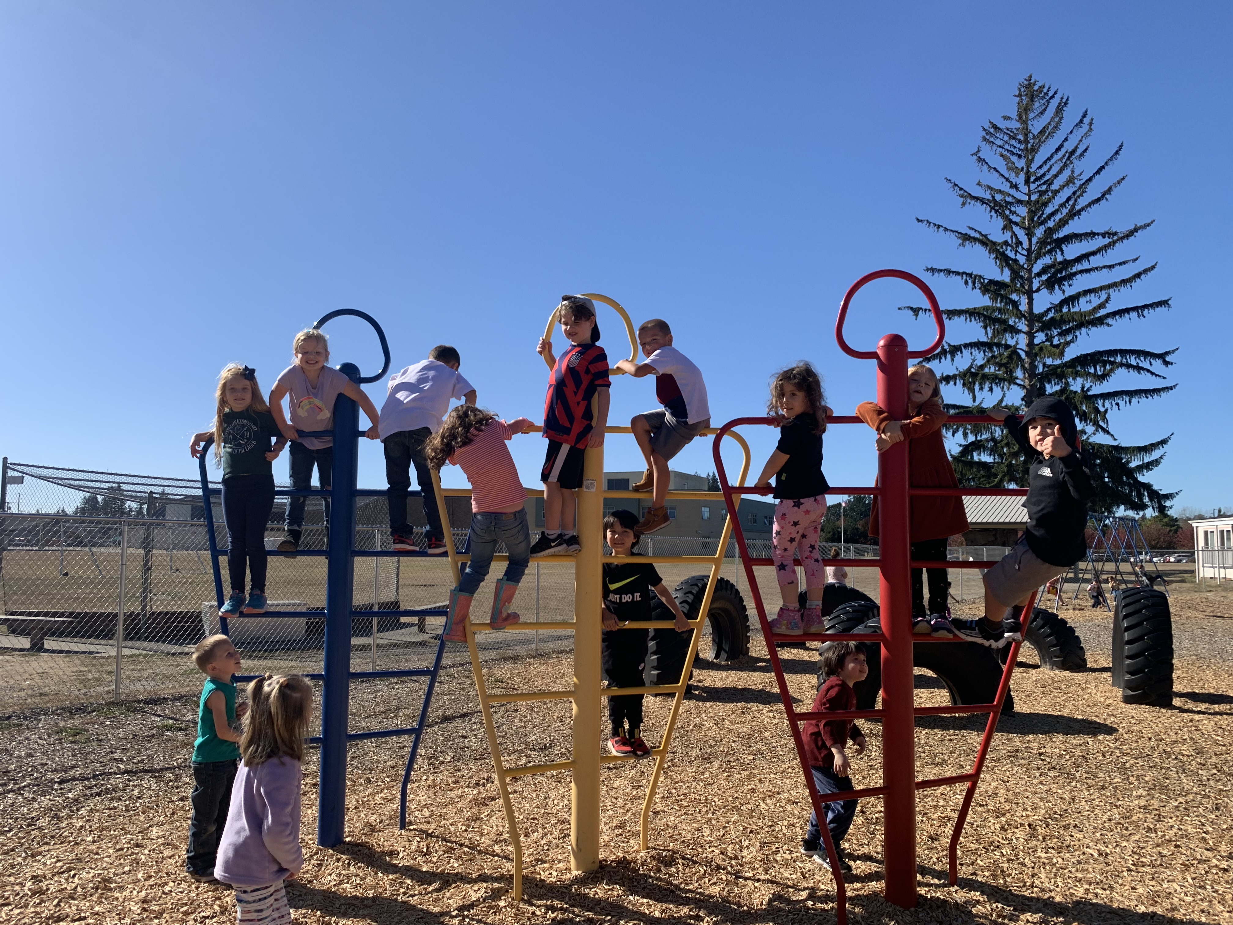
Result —
M869 673L864 649L859 643L843 641L827 643L824 650L821 662L826 682L817 691L811 712L854 710L856 691L852 689L852 684L864 681ZM852 778L848 777L845 746L851 739L857 755L864 751L864 735L856 723L850 719L810 719L801 733L805 736L805 756L809 758L809 770L814 772L814 786L817 792L825 797L829 793L851 791ZM852 872L852 866L845 860L840 842L852 826L856 803L854 799L845 799L822 804L826 828L831 831L835 853L838 855L840 870L846 873ZM809 815L809 830L800 842L800 853L811 855L817 863L830 863L816 813Z

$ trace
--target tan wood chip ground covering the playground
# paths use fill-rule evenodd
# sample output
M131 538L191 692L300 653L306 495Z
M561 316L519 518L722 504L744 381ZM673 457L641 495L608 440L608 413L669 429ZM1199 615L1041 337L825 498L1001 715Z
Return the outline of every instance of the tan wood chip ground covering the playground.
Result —
M880 802L864 800L846 845L853 923L1233 923L1233 593L1174 598L1176 705L1131 707L1108 683L1110 618L1068 609L1090 668L1021 668L946 884L961 791L920 797L921 902L882 890ZM316 760L305 773L307 863L289 894L297 923L834 921L826 868L798 851L808 798L783 710L756 643L743 664L702 662L655 804L652 850L637 851L645 765L603 776L600 868L570 871L567 773L513 783L525 902L509 894L512 855L469 671L443 672L397 829L404 742L350 750L348 841L313 845ZM815 656L784 650L793 692L810 697ZM497 662L493 691L568 684L568 656ZM917 675L917 701L944 692ZM0 921L222 923L229 892L182 873L196 692L181 698L16 714L0 723ZM412 720L409 683L356 684L356 728ZM668 704L649 698L655 739ZM561 703L497 708L509 763L568 757ZM917 776L967 770L980 722L928 718ZM869 751L859 784L875 783Z

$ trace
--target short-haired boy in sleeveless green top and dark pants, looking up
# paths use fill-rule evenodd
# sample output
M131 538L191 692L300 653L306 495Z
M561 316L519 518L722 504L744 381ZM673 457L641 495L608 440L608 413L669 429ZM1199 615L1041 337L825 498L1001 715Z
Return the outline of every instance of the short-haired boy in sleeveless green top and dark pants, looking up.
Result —
M239 723L248 704L236 707L239 650L223 635L207 636L192 652L194 664L206 672L197 707L197 741L192 745L192 818L185 870L199 883L215 882L215 856L227 823L232 782L239 761Z

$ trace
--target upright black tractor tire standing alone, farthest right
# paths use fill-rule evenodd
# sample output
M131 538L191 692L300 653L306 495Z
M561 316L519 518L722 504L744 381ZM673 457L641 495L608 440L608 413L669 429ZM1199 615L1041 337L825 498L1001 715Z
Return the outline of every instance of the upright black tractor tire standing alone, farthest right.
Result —
M1113 608L1113 687L1122 703L1173 705L1173 614L1155 588L1126 588Z

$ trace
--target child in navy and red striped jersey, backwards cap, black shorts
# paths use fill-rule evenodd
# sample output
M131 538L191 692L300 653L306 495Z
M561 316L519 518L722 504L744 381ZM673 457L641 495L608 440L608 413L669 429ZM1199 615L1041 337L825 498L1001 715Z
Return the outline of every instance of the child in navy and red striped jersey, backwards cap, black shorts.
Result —
M531 557L577 554L575 525L577 498L582 487L582 455L587 446L603 446L608 423L608 354L598 345L596 303L583 296L561 296L556 307L561 332L570 348L557 359L552 342L540 338L536 352L552 366L544 400L544 533L531 546ZM598 393L598 411L591 400Z

